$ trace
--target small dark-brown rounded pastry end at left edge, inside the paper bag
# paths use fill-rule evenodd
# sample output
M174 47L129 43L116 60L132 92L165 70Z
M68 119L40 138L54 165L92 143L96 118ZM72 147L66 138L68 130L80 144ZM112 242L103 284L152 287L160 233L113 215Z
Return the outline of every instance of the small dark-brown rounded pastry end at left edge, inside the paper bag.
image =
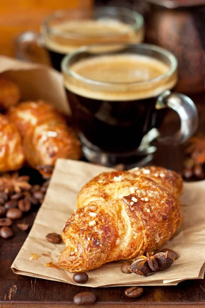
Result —
M11 80L0 78L0 108L15 106L20 99L20 89Z

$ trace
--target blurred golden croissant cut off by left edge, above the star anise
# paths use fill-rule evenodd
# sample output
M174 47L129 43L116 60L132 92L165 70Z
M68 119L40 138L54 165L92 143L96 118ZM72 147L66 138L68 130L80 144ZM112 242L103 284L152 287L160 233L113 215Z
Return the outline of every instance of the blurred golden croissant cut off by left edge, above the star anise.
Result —
M24 163L22 140L16 126L0 114L0 171L17 170Z

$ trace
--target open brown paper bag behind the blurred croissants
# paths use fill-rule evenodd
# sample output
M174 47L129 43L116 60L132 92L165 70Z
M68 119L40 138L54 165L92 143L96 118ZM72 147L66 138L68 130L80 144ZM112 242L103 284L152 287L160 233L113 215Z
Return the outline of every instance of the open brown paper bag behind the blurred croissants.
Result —
M46 65L19 61L0 55L0 77L14 81L21 92L20 101L42 99L70 113L63 77L56 70Z

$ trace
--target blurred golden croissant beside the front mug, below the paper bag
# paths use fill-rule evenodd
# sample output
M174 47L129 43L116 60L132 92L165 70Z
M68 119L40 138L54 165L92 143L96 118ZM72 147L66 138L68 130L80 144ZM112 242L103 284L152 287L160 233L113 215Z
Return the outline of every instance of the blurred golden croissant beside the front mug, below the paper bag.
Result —
M79 159L80 143L61 114L44 101L24 102L9 110L23 138L27 162L52 165L57 158Z

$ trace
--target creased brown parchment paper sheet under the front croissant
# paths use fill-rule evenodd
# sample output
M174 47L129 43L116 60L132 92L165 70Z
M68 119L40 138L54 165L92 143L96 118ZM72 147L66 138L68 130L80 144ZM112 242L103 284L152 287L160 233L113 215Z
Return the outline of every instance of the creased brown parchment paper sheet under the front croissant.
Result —
M48 233L61 234L65 222L76 208L76 197L80 188L91 178L109 168L80 161L59 159L56 163L44 203L40 207L33 227L11 268L14 273L43 279L76 284L72 273L64 269L45 267L57 259L64 244L46 241ZM205 181L185 183L181 197L184 214L183 223L166 247L174 249L178 259L168 271L157 272L148 277L122 274L123 261L107 263L89 271L86 286L119 285L175 285L185 279L203 278L205 261ZM36 260L29 260L31 254ZM46 254L46 256L44 256Z

